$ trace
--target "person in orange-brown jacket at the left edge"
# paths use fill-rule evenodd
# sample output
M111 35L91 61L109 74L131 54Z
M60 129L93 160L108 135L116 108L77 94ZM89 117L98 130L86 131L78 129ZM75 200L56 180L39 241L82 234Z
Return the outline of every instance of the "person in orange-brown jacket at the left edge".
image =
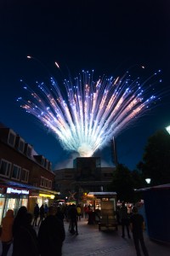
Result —
M2 256L7 256L8 249L13 241L13 223L14 223L14 211L8 210L6 216L2 221L2 235L1 241L3 244Z

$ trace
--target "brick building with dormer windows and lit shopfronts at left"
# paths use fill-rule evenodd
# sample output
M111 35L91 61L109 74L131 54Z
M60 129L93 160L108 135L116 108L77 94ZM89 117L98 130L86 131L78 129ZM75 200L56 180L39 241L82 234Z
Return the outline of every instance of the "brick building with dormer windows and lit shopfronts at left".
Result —
M12 129L0 125L0 223L7 210L48 205L54 191L52 163Z

